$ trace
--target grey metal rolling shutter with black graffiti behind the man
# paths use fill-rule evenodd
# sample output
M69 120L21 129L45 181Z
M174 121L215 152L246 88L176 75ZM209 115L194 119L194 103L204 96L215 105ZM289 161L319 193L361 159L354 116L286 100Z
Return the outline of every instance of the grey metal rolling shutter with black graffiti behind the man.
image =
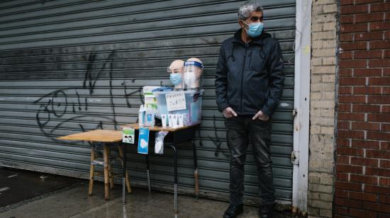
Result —
M214 72L221 42L238 29L242 1L1 1L0 166L88 178L89 147L55 139L137 120L140 88L169 86L167 65L199 57L203 120L196 134L201 194L228 199L228 149L216 110ZM282 45L285 90L274 115L272 160L277 199L291 203L295 1L262 1L267 31ZM145 185L144 157L130 149L133 184ZM172 153L150 156L152 184L169 190ZM191 193L189 145L179 147L179 187ZM247 200L257 201L252 153Z

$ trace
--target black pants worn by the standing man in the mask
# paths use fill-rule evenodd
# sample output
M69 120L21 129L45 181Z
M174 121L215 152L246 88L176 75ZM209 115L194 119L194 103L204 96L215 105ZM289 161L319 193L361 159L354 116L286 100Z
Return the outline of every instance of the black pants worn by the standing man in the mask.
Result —
M274 203L272 175L271 120L252 120L252 116L230 117L225 120L226 139L230 149L230 203L242 204L244 193L244 165L248 139L252 142L253 157L257 164L260 198L262 205Z

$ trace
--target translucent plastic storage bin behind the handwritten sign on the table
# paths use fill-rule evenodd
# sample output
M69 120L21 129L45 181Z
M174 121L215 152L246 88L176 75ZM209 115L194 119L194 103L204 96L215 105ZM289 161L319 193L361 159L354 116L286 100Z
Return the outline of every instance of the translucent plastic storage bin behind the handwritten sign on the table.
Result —
M165 96L167 93L176 91L154 91L153 94L157 98L157 113L162 114L183 114L184 125L196 125L201 123L201 105L202 96L204 90L187 90L183 91L186 98L186 109L185 110L167 110L167 99Z

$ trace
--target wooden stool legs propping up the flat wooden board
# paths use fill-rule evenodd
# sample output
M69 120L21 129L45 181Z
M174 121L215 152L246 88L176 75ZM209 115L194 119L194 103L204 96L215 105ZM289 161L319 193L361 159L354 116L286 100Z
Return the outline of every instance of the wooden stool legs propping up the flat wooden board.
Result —
M113 188L113 178L115 177L113 174L113 168L112 168L112 160L111 157L111 150L110 147L106 143L103 144L103 162L97 161L96 154L95 154L95 146L94 144L91 147L91 170L89 171L89 188L88 188L88 195L91 196L92 192L94 190L94 176L100 176L101 173L95 172L95 165L101 165L104 166L104 199L109 200L110 188ZM123 150L121 145L118 145L118 154L119 159L121 161L122 167L123 167ZM116 176L121 176L121 174L118 174ZM131 187L130 187L130 181L128 180L128 171L126 171L126 188L128 190L128 193L131 193ZM109 186L109 188L108 188Z

